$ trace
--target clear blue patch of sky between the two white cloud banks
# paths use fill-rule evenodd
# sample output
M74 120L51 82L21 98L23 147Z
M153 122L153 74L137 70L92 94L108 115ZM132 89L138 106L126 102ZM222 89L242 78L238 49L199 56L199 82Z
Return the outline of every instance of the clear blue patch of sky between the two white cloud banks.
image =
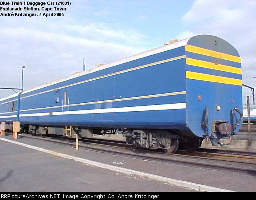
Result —
M133 28L146 36L149 46L162 45L162 41L178 35L184 27L182 16L188 12L193 0L93 0L78 18L82 24L104 23L111 27ZM78 19L79 20L79 19ZM147 40L146 40L147 39Z

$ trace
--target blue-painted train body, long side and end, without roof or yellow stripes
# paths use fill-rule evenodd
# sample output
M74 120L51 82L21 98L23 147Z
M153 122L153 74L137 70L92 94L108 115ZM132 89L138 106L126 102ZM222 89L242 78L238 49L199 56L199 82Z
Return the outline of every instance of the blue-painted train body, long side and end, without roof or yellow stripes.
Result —
M218 45L215 45L212 41L217 39ZM234 47L214 36L196 36L188 40L188 44L239 56ZM207 62L217 60L236 68L241 68L241 64L186 52L185 48L186 45L180 46L31 92L21 92L0 102L0 121L18 120L21 124L44 126L175 129L188 137L203 137L202 120L206 106L209 108L209 124L212 120L230 123L230 110L234 107L242 110L242 86L186 79L186 71L236 79L242 79L242 76L187 65L186 58ZM175 59L162 62L172 58ZM150 66L152 63L154 65ZM130 70L132 68L135 69ZM54 91L56 88L57 92ZM67 92L66 105L64 92ZM201 101L197 99L198 95L202 96ZM7 113L10 110L6 111L5 102L12 100L17 100L18 112ZM177 107L170 108L170 104ZM169 107L164 109L162 105ZM222 109L216 111L216 105ZM1 118L11 115L17 117ZM238 114L235 116L239 118ZM208 132L211 132L211 126Z

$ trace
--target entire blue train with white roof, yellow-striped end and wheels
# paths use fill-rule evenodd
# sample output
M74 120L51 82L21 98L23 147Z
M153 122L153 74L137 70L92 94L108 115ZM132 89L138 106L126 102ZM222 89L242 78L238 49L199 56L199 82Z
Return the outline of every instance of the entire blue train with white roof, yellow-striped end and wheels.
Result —
M237 50L199 35L0 100L0 121L22 131L92 137L121 131L136 147L175 152L213 145L242 125ZM11 125L10 125L11 128Z

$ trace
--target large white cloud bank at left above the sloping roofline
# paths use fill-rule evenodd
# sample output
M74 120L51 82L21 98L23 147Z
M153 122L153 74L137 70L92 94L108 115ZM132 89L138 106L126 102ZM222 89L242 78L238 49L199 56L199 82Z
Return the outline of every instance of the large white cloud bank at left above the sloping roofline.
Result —
M92 68L145 50L146 37L137 30L70 16L0 19L0 87L20 87L23 65L24 88L30 89L82 71L82 58ZM9 94L1 90L0 98Z

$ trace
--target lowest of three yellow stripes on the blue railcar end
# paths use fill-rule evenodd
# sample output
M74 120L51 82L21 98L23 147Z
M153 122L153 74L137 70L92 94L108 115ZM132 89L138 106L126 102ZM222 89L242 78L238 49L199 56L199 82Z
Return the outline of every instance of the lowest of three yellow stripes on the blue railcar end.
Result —
M202 74L202 73L198 73L198 72L186 71L186 78L242 86L242 80L240 80L240 79L228 78L228 77L223 77L223 76L214 76L214 75Z

